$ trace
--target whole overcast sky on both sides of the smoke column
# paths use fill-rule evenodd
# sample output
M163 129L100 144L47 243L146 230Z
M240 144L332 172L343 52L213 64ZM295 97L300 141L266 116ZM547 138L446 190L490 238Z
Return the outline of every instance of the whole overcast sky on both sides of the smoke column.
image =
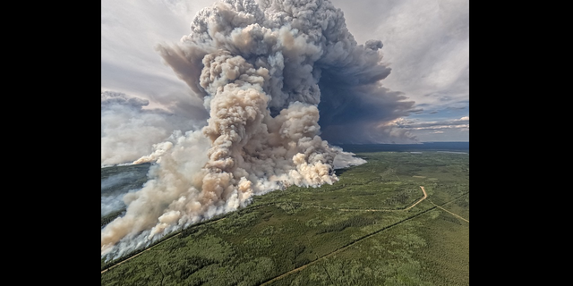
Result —
M469 0L331 2L343 11L346 27L358 44L381 40L383 63L391 68L389 76L381 80L382 86L415 102L411 114L391 124L408 130L420 142L469 141ZM213 3L102 0L102 144L104 133L115 128L113 122L134 112L145 113L141 125L160 130L158 138L147 138L147 146L152 141L159 143L175 128L184 129L184 122L196 127L207 118L201 99L163 63L154 46L188 35L195 14ZM112 116L111 109L104 114L104 92L123 93L141 101L130 101L124 117ZM172 115L167 118L158 108ZM104 126L104 122L111 123ZM129 135L121 129L115 132ZM109 136L105 144L118 147L121 142L116 138Z

